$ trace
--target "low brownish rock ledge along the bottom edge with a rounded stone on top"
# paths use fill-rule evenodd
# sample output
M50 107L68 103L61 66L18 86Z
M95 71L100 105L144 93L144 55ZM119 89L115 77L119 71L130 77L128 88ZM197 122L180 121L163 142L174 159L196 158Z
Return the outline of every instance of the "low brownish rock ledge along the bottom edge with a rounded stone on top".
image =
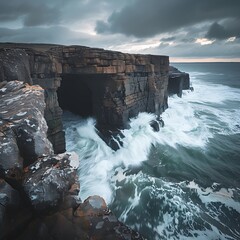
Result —
M86 199L74 211L63 210L43 218L34 219L17 240L140 240L131 230L113 215L99 196Z

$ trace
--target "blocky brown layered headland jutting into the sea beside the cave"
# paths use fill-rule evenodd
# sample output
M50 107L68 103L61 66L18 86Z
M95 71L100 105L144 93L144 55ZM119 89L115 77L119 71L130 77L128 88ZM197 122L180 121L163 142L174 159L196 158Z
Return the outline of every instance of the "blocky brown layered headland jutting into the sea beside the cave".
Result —
M63 47L62 52L60 101L64 101L61 95L67 98L64 92L70 82L79 84L85 93L89 91L84 102L92 102L92 115L99 125L126 127L129 118L139 112L159 115L167 108L168 57L86 47ZM74 110L77 112L77 107Z

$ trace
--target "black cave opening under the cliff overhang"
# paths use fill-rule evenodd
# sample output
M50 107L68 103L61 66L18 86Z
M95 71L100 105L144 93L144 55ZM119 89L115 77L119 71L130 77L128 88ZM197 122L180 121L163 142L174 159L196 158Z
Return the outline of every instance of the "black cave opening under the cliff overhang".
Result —
M92 91L80 74L63 74L58 88L59 106L81 117L93 116Z

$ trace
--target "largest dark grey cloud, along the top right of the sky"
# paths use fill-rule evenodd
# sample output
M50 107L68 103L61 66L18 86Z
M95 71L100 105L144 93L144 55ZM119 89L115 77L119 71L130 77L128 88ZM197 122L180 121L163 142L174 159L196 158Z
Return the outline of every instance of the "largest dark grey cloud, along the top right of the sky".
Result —
M98 33L112 32L151 37L204 21L240 17L239 0L134 0L98 21Z

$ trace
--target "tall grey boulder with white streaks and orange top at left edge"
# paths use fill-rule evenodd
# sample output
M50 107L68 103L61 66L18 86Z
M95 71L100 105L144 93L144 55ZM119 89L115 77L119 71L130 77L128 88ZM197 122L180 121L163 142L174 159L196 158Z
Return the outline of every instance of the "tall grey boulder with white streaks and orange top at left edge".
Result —
M0 88L0 168L22 169L52 153L43 118L44 92L40 87L11 81Z

